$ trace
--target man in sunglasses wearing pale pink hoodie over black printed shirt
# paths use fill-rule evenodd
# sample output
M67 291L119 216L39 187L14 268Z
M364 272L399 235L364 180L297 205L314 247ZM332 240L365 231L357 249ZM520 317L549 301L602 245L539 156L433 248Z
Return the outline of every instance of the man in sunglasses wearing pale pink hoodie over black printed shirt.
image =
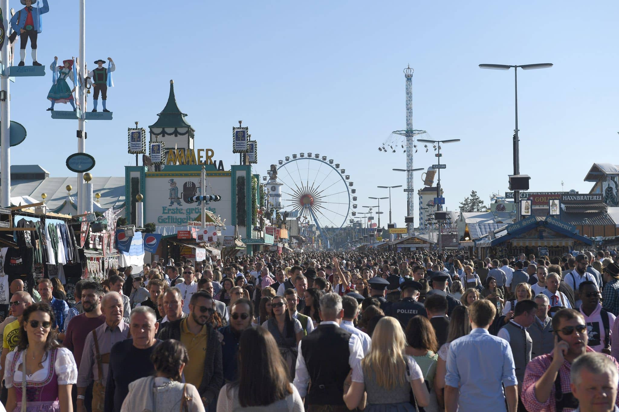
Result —
M580 312L584 316L589 335L589 347L596 352L610 355L610 327L615 322L615 315L607 312L600 304L600 292L595 284L586 280L578 287L582 300Z

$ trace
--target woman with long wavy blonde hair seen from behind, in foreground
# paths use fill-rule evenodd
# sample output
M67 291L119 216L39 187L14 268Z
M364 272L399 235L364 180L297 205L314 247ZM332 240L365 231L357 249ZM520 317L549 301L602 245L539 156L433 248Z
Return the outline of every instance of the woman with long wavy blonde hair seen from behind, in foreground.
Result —
M430 394L423 381L423 372L415 360L405 354L406 338L400 322L383 317L374 329L370 353L361 360L363 382L344 384L344 402L349 410L357 408L366 392L366 412L408 411L413 390L418 406L428 406Z

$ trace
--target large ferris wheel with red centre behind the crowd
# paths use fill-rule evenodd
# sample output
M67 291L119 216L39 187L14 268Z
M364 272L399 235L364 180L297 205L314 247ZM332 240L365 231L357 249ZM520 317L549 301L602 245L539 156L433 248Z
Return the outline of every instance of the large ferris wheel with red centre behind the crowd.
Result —
M315 224L324 244L357 213L357 191L340 164L318 153L299 153L278 161L277 180L283 183L281 208L298 211L301 224Z

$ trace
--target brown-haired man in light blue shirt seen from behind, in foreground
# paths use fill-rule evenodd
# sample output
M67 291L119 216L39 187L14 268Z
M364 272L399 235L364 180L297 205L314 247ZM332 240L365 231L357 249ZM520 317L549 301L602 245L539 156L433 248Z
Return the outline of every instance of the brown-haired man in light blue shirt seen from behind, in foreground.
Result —
M489 300L469 306L471 332L449 345L445 376L445 410L516 412L518 391L509 343L490 335L496 308ZM505 393L503 393L503 387Z

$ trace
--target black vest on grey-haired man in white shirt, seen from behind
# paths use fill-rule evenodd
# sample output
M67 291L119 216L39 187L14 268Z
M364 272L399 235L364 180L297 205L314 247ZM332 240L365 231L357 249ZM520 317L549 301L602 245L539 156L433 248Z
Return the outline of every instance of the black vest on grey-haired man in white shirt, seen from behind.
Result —
M301 340L309 372L308 405L344 405L344 380L350 371L350 332L335 325L320 325Z

